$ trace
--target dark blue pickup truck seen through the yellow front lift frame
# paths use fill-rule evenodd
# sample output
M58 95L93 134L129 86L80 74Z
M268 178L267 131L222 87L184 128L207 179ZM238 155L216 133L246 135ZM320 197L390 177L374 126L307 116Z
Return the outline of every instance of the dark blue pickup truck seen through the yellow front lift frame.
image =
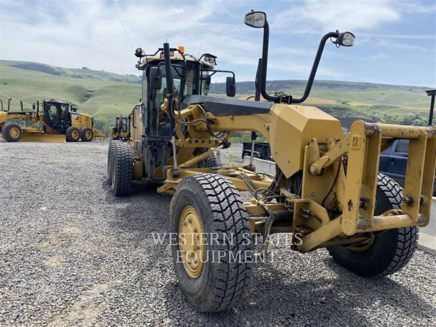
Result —
M380 154L378 171L391 177L402 187L404 187L408 151L409 140L396 140L388 150ZM436 181L434 183L433 196L436 195Z

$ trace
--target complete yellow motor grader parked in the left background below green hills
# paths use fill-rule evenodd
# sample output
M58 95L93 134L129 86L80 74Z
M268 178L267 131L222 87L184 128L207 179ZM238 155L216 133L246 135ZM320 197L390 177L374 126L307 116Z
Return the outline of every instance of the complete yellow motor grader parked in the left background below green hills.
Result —
M94 127L92 116L78 113L71 103L61 102L51 98L41 103L33 104L33 110L24 110L20 101L20 111L10 111L8 99L7 110L0 112L0 128L3 139L7 142L90 142L95 137L105 136ZM11 119L21 119L30 126L20 126L10 123ZM8 123L7 123L8 122ZM39 126L42 125L42 128Z

